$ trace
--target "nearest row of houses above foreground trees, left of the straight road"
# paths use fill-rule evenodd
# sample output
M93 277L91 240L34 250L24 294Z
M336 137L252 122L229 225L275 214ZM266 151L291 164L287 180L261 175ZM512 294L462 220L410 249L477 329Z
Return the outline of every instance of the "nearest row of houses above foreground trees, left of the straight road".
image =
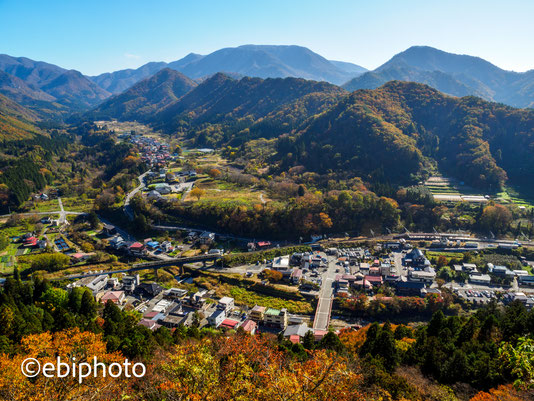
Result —
M274 333L284 333L293 342L300 341L308 328L301 318L290 316L286 309L275 309L260 305L247 312L236 308L231 297L221 297L213 301L214 291L200 289L188 295L180 288L164 289L156 283L142 283L139 275L123 275L121 281L107 274L84 277L67 286L88 288L97 302L113 302L119 307L132 303L143 314L140 325L151 330L161 326L169 329L179 325L217 329L242 330L255 334L260 328ZM297 338L298 337L298 338Z

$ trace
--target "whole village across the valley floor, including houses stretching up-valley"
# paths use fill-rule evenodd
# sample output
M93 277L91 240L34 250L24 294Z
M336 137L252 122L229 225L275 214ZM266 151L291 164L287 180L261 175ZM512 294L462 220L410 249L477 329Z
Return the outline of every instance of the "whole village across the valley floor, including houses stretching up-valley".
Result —
M147 202L181 201L195 187L199 171L182 163L184 157L169 145L133 133L118 139L134 145L149 167L125 197L123 211L129 220L133 220L130 202L138 194ZM195 152L204 157L213 150ZM528 308L534 305L533 262L510 257L508 266L476 264L467 257L489 249L511 253L522 246L517 241L485 242L465 234L439 233L360 240L314 235L311 241L298 244L301 250L285 253L295 244L237 239L164 222L153 227L155 235L134 237L94 213L65 210L54 191L35 195L36 202L51 199L57 199L59 210L18 216L33 219L33 230L10 238L15 257L23 260L42 252L65 255L61 266L45 272L52 273L51 279L65 283L68 291L89 289L100 304L112 302L136 311L138 324L150 330L180 325L239 329L251 334L280 333L297 343L308 333L320 340L331 329L360 327L364 319L351 318L343 305L361 295L368 300L427 300L441 299L446 292L467 308L493 300L505 304L519 300ZM233 262L239 255L250 262ZM13 265L10 259L4 268L13 269ZM272 296L253 298L265 300L255 303L230 296L232 287L220 296L198 280L208 273L227 281L242 280L247 294ZM276 297L296 299L307 306L275 307Z

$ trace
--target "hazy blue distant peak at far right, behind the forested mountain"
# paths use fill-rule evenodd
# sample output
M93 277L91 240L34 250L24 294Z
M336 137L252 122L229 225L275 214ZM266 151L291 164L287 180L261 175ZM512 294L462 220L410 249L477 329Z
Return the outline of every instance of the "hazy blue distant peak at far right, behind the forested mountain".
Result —
M475 95L515 107L534 107L534 70L506 71L479 57L427 46L410 47L343 87L374 89L393 80L424 83L454 96Z

